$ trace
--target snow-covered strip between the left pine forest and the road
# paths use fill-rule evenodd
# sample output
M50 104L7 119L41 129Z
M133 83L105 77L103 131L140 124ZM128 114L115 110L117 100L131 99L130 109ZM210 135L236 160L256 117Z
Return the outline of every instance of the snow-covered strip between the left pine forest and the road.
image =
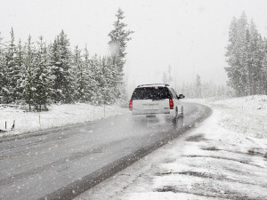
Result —
M15 129L12 132L0 132L0 137L33 132L47 128L60 127L66 124L77 124L94 121L110 116L117 116L129 112L127 108L117 106L94 107L89 104L62 104L53 105L47 112L24 112L19 108L5 107L0 104L0 130L12 128L15 121Z

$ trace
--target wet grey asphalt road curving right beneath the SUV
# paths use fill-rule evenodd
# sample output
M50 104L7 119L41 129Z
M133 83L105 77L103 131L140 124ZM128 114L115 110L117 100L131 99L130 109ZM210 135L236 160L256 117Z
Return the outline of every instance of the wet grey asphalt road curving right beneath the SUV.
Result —
M211 110L184 103L176 123L131 115L0 140L0 199L72 199L166 144Z

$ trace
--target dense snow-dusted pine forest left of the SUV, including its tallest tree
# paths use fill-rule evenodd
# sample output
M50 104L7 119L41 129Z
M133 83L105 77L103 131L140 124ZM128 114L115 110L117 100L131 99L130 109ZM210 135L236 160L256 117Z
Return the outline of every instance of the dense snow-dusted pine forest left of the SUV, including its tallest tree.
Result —
M0 37L0 104L28 105L28 110L47 110L51 103L87 102L93 105L122 102L125 97L125 47L134 31L125 30L124 12L118 9L109 32L110 55L90 55L85 48L71 51L61 30L52 44L44 37L23 43Z

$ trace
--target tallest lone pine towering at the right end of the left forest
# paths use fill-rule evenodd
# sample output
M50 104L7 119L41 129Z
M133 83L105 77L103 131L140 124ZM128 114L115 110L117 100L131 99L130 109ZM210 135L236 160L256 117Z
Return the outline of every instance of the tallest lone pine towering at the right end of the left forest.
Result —
M116 13L117 20L114 22L114 28L109 32L109 50L112 57L113 65L117 67L119 76L117 81L119 84L120 92L117 93L117 99L122 99L125 96L125 84L123 80L123 70L125 65L126 44L132 38L131 34L134 33L132 30L125 30L126 24L122 21L125 16L124 12L119 8ZM120 79L119 79L120 78Z

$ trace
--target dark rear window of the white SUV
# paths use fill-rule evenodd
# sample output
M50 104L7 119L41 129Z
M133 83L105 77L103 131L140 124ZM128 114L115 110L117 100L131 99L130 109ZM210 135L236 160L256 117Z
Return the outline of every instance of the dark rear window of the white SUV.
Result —
M136 88L132 95L132 100L163 100L170 98L170 92L166 87Z

